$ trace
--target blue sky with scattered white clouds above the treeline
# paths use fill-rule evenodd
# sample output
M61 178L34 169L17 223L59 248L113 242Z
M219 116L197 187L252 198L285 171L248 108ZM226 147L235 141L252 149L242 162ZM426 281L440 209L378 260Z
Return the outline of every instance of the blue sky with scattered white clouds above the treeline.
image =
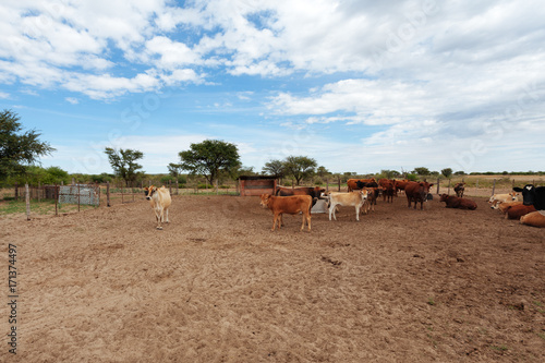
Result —
M167 173L192 143L254 171L545 170L541 1L63 0L0 3L0 109L112 172Z

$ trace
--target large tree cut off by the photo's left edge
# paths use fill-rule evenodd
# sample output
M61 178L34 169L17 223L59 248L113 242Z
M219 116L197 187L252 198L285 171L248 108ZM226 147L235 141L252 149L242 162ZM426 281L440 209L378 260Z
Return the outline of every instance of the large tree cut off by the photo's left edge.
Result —
M40 134L36 130L22 133L19 120L10 110L0 112L0 180L24 173L40 156L55 152L48 143L38 140Z

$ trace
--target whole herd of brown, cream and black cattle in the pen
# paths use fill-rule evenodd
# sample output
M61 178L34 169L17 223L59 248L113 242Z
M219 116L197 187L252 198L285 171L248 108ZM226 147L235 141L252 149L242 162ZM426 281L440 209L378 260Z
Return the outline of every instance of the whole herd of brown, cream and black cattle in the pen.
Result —
M477 205L474 201L463 197L464 184L455 185L456 195L441 194L439 202L445 203L447 208L476 209ZM397 196L400 191L404 191L409 208L413 206L416 209L420 203L422 210L424 203L433 198L429 189L434 184L426 181L349 179L347 185L348 192L346 193L326 193L326 190L319 186L294 189L280 186L276 189L275 195L262 194L261 205L272 211L272 231L276 226L278 229L283 226L283 214L295 215L299 213L303 216L301 230L307 226L310 231L311 210L318 199L327 202L329 220L331 217L337 220L335 213L338 206L354 207L355 219L360 220L360 213L367 214L370 210L375 210L374 206L380 195L384 202L391 203L393 196ZM154 208L157 229L162 229L161 222L169 222L168 208L171 198L168 189L150 185L144 189L144 193ZM522 225L545 227L545 186L528 184L524 187L513 187L510 193L494 194L488 199L488 204L491 208L499 209L506 219L519 219Z

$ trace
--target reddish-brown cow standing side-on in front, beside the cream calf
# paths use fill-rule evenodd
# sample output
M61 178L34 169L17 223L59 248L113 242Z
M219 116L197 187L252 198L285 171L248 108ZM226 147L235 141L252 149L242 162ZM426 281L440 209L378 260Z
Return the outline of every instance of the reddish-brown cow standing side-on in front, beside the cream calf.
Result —
M283 226L282 214L287 213L289 215L295 215L298 213L303 214L303 223L301 225L301 230L305 227L305 220L308 225L308 231L311 231L311 205L312 196L310 195L289 195L289 196L275 196L270 194L261 195L261 206L264 208L269 208L272 211L272 229L275 230L278 222L278 229Z

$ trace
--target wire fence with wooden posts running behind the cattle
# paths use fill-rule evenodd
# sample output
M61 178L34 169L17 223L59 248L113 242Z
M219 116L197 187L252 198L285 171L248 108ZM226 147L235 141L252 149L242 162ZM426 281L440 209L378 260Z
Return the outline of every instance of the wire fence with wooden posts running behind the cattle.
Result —
M437 179L433 182L432 193L455 194L453 187L459 179ZM545 185L543 177L535 178L481 178L468 179L464 181L464 196L489 197L495 193L508 193L513 186L525 184ZM111 207L126 203L145 201L144 186L162 185L153 183L152 180L141 182L138 187L128 187L123 183L95 183L95 184L72 184L72 185L14 185L12 187L0 189L0 216L10 214L27 213L29 210L37 215L59 215L86 210L89 208ZM315 186L308 185L298 186ZM293 183L292 183L293 185ZM346 183L339 178L326 179L320 184L327 191L346 191ZM170 194L183 195L240 195L238 182L223 185L210 185L207 183L192 182L187 184L167 183ZM294 186L294 187L298 187Z

